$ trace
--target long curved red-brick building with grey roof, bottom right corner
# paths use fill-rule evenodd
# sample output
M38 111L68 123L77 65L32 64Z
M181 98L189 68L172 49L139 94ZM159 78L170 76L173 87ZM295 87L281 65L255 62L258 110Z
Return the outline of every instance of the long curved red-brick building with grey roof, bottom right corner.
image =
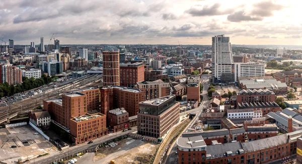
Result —
M176 142L178 163L266 163L294 154L295 145L301 142L297 136L301 134L299 130L250 142L213 145L207 145L200 135L183 134ZM301 156L297 155L297 160L301 160Z

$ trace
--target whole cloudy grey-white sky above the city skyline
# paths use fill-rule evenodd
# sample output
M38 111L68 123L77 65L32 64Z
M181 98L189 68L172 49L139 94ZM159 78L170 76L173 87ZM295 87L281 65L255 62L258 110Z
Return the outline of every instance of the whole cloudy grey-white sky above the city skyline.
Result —
M15 44L302 44L302 2L2 0L0 37ZM53 42L51 42L53 44Z

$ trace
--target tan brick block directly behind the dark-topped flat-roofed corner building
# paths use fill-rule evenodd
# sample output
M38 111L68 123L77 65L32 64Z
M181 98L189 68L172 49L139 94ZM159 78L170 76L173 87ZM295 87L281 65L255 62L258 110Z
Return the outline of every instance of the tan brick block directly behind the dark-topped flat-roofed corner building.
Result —
M162 80L140 81L136 84L137 89L142 92L142 101L171 95L170 84Z

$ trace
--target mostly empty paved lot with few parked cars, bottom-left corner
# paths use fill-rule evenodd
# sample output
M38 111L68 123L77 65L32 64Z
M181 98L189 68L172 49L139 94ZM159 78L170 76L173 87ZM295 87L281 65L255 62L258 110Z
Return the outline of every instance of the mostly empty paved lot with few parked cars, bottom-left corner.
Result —
M53 145L29 125L0 129L0 161L14 163L39 154L55 152ZM15 145L16 147L12 148Z

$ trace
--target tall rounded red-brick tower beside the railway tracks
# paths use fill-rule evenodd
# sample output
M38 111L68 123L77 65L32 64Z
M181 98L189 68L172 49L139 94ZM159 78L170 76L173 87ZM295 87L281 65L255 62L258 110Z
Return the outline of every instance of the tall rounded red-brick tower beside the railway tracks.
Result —
M103 52L103 85L119 86L119 51Z

